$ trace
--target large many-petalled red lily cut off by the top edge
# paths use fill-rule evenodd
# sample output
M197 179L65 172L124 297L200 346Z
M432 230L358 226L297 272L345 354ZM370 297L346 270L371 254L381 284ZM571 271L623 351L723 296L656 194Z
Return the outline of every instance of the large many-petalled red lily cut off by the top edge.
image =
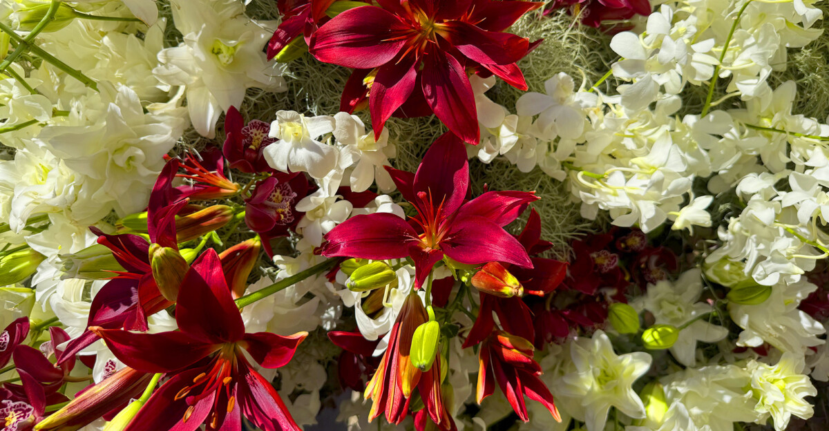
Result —
M478 114L466 69L486 70L526 90L516 61L526 56L530 42L502 31L543 3L377 3L379 7L355 7L333 17L314 31L308 51L319 61L356 69L355 73L366 78L373 75L369 108L376 137L397 109L422 95L449 130L463 141L477 144ZM343 98L353 99L354 94L343 93Z

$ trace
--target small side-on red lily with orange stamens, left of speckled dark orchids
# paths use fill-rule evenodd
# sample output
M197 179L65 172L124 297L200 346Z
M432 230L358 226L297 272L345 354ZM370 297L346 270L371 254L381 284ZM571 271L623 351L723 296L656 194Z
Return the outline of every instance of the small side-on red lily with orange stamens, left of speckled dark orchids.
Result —
M172 157L165 156L167 161ZM240 186L225 177L225 159L219 148L211 147L200 154L186 153L179 163L187 173L177 173L176 177L187 178L194 183L175 187L172 201L190 198L196 201L210 201L239 193Z

